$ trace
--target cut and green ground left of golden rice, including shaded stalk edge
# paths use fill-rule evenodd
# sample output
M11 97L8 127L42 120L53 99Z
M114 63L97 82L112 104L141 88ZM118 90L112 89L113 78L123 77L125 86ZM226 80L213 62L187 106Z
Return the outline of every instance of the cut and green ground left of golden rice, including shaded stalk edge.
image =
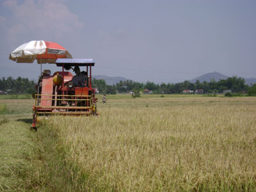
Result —
M56 132L44 120L30 128L33 102L0 101L0 191L85 191L88 175L67 161Z

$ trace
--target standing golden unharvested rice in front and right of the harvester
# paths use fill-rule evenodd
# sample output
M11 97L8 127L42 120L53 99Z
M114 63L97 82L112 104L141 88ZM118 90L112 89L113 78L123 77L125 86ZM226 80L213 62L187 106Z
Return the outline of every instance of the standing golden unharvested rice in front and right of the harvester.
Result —
M42 128L77 166L79 190L256 191L256 97L107 99L99 118Z

